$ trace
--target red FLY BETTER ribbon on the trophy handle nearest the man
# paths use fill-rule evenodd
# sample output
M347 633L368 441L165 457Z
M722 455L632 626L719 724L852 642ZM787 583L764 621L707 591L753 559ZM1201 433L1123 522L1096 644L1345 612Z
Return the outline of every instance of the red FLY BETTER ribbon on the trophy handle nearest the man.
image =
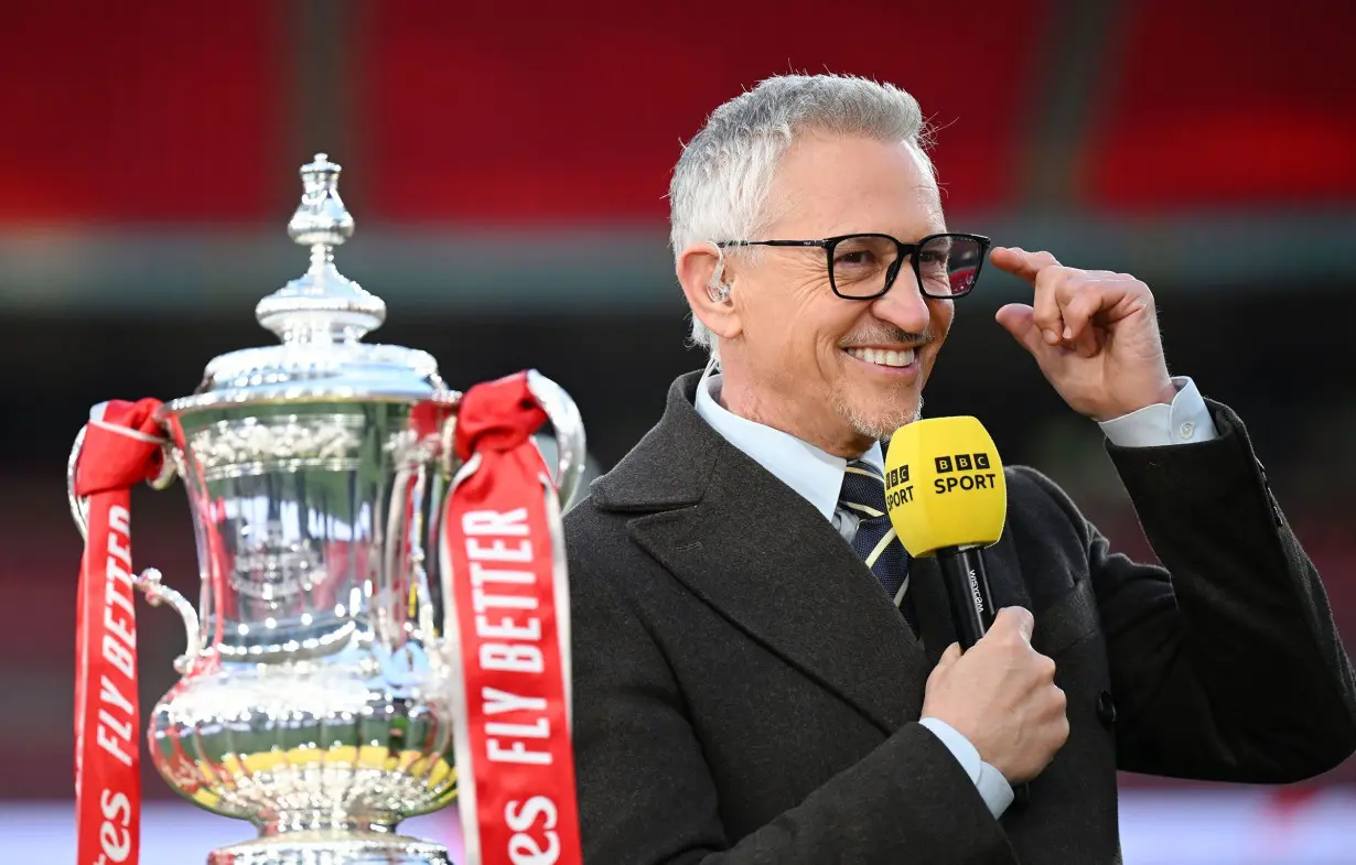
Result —
M464 689L457 781L465 862L579 865L570 738L570 598L556 489L532 434L546 420L525 373L471 388L457 409L464 461L447 498Z

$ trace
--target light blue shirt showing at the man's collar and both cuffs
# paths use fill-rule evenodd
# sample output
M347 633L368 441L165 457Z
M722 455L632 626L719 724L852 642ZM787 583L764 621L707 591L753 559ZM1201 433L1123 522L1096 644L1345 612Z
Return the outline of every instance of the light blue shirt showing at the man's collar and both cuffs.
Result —
M1098 426L1106 438L1113 445L1123 447L1180 445L1216 438L1219 432L1196 384L1185 376L1173 378L1173 384L1177 386L1177 396L1170 405L1146 405L1139 411L1100 423ZM838 506L848 460L826 453L795 435L740 418L725 409L720 404L719 374L702 377L697 385L696 408L697 414L716 432L749 454L754 462L785 481L852 542L857 534L857 515ZM871 450L860 458L884 470L885 457L879 442L872 445ZM1008 805L1013 803L1012 786L1002 773L986 763L970 739L946 721L923 717L919 723L941 739L946 750L952 752L979 790L984 804L989 805L994 819L1002 816Z

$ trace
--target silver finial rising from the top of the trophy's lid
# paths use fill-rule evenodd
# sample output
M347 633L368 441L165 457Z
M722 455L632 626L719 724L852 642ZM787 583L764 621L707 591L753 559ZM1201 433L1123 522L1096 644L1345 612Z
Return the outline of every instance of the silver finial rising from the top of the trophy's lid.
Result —
M381 327L386 305L335 267L334 248L353 236L353 214L339 198L342 167L316 153L301 167L301 203L287 236L311 247L306 273L259 301L255 317L283 343L357 342Z

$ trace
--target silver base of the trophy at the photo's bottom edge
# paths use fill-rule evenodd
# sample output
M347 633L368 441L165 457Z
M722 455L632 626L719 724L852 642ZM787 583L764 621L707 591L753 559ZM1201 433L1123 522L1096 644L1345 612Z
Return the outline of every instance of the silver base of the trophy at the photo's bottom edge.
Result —
M207 865L450 865L442 845L365 831L285 832L213 850Z

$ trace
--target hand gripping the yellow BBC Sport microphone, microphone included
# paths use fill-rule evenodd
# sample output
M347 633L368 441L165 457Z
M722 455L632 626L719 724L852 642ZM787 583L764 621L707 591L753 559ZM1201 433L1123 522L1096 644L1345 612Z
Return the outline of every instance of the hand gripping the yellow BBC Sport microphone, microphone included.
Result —
M1069 739L1069 719L1055 662L1031 645L1031 613L995 613L990 595L982 550L1008 512L998 447L975 418L902 427L885 454L885 504L909 555L937 560L960 639L928 678L923 716L956 728L1009 784L1031 781Z

